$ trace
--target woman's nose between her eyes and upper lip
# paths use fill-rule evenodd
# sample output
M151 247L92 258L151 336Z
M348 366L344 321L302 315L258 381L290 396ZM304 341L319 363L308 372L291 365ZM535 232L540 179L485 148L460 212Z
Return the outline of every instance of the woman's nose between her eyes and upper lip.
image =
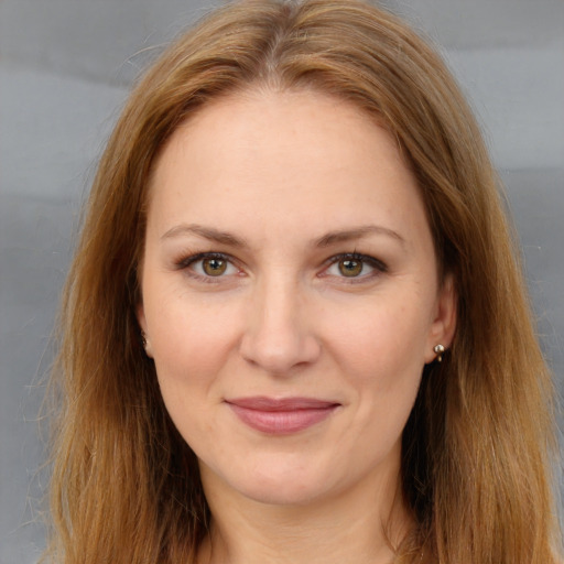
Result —
M299 284L264 282L253 292L241 356L273 376L290 376L317 360L321 343Z

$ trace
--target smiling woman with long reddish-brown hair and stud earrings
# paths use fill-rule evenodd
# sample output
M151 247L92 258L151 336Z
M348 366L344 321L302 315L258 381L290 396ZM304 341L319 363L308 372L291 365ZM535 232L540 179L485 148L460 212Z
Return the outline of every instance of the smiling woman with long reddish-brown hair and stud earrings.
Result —
M53 562L553 563L552 389L476 123L356 1L130 97L63 310Z

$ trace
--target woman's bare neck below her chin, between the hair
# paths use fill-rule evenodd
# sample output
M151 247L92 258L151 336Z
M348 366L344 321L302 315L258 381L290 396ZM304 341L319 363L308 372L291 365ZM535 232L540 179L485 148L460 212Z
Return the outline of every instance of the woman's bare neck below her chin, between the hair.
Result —
M254 501L205 469L203 481L213 520L200 564L389 564L411 525L398 474L299 506Z

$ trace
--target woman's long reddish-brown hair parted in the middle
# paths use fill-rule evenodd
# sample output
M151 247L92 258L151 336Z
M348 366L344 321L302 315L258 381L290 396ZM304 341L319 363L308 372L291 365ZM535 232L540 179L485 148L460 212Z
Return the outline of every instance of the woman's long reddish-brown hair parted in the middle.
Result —
M307 88L376 116L423 195L454 276L452 350L425 368L403 434L416 525L397 562L549 564L551 379L480 132L440 57L356 0L250 0L215 11L149 69L99 164L61 316L51 481L56 563L195 562L209 524L194 454L162 402L135 304L159 151L210 99Z

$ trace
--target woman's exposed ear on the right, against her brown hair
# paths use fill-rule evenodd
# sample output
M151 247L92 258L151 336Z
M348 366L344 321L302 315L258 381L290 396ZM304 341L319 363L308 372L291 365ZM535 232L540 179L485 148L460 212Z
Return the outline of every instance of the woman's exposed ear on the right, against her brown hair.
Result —
M448 274L438 291L435 316L429 330L429 340L425 347L425 364L435 360L436 352L434 348L436 345L443 345L446 350L453 344L457 305L458 295L454 285L454 278Z

